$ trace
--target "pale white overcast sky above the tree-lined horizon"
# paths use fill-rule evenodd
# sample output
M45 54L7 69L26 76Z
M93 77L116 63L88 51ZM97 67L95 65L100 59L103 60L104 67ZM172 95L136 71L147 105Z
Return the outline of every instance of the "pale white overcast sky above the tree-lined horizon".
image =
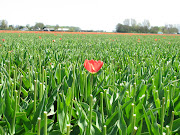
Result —
M151 26L180 24L179 5L180 0L0 0L0 20L111 32L128 18L149 20Z

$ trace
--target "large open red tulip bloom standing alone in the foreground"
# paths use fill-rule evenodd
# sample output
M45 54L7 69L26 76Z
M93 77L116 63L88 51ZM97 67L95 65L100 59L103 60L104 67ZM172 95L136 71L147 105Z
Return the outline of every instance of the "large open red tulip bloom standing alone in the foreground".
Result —
M103 61L96 61L96 60L85 60L84 67L90 72L90 73L97 73L101 67L103 66Z

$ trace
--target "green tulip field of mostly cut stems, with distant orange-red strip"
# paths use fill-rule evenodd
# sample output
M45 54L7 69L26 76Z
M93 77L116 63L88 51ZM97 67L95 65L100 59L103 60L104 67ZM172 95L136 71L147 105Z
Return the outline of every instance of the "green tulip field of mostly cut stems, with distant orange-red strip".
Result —
M180 135L180 36L0 32L0 135Z

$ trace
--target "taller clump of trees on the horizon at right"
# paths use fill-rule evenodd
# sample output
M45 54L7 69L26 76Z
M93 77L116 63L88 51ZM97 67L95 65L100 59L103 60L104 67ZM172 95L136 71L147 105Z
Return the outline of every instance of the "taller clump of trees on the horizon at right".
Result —
M125 19L123 24L116 25L116 32L119 33L164 33L175 34L178 33L180 25L173 26L166 24L165 26L151 26L149 20L144 20L142 23L137 23L135 19Z

